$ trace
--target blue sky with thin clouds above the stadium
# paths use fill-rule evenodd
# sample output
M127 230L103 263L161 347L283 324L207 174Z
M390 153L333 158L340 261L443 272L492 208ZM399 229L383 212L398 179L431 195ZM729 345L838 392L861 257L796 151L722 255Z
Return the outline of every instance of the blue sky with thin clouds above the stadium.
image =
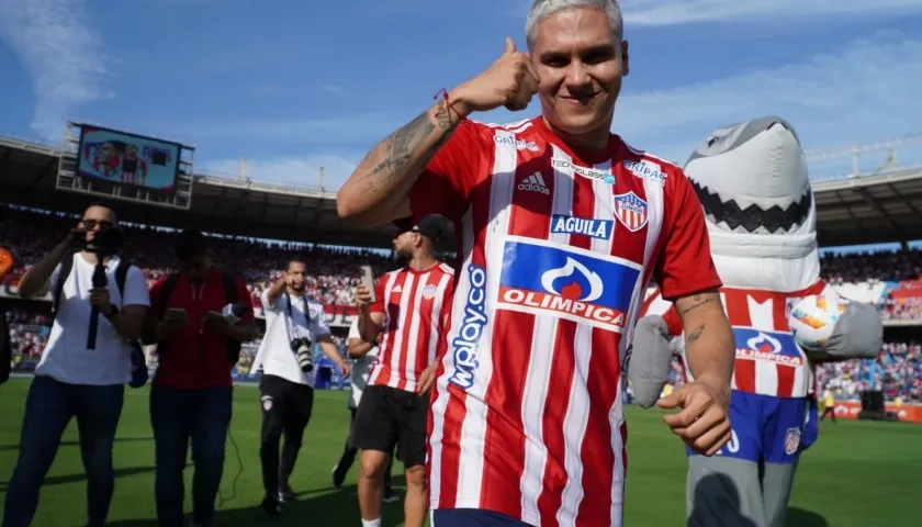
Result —
M93 122L194 144L212 171L246 157L254 179L314 186L324 166L335 189L505 36L524 46L530 3L0 0L0 134L55 143L65 120ZM922 133L922 0L621 5L631 75L614 130L638 147L681 162L709 131L768 113L808 149ZM922 162L922 144L899 155Z

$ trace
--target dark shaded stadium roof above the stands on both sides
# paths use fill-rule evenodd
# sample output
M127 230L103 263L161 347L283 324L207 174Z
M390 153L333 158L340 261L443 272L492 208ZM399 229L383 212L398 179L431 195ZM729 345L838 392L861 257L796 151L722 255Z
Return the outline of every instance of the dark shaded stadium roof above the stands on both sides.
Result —
M0 202L79 214L99 198L56 191L60 150L0 137ZM922 167L890 167L813 183L822 246L922 239ZM336 192L196 175L189 211L138 202L119 208L126 222L256 238L390 247L393 226L358 228L340 221ZM450 248L449 246L440 247Z

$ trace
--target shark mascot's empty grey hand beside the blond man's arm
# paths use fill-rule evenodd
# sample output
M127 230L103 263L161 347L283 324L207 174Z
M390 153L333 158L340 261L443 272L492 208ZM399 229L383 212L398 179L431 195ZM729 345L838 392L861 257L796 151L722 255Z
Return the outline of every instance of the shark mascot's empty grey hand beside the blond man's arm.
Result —
M642 408L656 404L663 393L672 370L671 340L662 316L650 315L638 321L628 358L628 378L637 404Z

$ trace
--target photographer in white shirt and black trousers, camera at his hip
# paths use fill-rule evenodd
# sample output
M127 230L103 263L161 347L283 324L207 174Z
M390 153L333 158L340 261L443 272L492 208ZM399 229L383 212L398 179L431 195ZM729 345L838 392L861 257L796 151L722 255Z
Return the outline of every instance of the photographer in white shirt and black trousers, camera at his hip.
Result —
M295 497L289 478L314 406L314 344L336 363L344 378L349 375L349 366L330 338L324 306L305 294L306 287L307 264L293 258L261 296L266 335L251 371L260 367L263 371L259 381L262 404L259 459L266 491L262 508L270 516L278 514L281 503ZM280 461L282 434L285 440Z

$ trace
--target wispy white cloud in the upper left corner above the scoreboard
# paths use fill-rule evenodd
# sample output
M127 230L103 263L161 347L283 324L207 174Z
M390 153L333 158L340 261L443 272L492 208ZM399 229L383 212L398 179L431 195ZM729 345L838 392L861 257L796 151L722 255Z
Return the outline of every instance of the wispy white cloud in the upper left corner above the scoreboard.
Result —
M75 106L111 97L102 38L82 0L0 0L0 41L20 58L35 92L32 128L59 137Z

